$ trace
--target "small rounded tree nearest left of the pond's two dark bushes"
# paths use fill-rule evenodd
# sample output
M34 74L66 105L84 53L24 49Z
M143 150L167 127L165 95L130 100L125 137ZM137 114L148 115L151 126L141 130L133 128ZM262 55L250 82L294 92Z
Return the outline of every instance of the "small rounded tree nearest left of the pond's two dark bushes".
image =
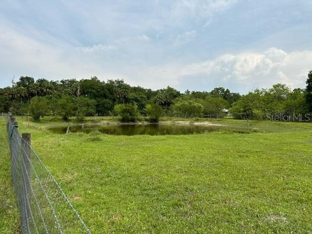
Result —
M75 114L78 121L83 121L85 116L92 116L96 113L96 101L87 97L78 97L75 101Z

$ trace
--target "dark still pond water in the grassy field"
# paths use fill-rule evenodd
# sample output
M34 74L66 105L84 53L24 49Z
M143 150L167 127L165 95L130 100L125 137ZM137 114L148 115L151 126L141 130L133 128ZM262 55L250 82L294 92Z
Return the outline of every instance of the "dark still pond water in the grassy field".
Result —
M66 126L49 128L53 133L65 134ZM231 131L236 133L248 133L245 129L229 128L227 126L207 126L207 125L175 125L175 124L112 124L112 125L70 125L71 133L90 133L98 130L109 135L190 135L203 134L216 131Z

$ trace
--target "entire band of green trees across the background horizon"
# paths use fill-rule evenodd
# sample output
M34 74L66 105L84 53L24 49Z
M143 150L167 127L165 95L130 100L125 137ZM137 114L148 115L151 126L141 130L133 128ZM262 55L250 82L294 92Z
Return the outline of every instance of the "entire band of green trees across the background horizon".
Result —
M254 89L246 95L223 87L212 91L184 93L168 86L152 90L131 86L123 80L101 81L62 79L49 81L20 77L12 86L0 88L0 112L31 115L35 120L50 115L67 120L76 116L118 115L122 121L136 121L147 116L157 122L163 115L202 117L222 115L229 109L236 118L263 119L269 114L305 114L312 112L312 71L306 89L291 90L285 84L267 89Z

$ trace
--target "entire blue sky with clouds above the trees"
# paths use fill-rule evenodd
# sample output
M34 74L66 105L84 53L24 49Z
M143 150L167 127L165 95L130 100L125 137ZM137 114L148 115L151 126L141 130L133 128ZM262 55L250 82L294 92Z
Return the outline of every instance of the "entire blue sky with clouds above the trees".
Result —
M180 91L304 88L311 0L1 0L0 87L31 76Z

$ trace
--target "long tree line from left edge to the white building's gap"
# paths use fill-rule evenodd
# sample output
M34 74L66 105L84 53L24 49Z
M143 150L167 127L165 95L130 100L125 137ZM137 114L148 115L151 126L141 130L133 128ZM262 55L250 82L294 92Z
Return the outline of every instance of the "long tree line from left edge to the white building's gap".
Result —
M162 115L194 117L220 112L239 98L238 93L225 88L182 94L169 86L152 90L131 86L119 79L101 81L91 77L49 81L20 77L19 81L12 82L11 87L0 89L0 112L30 114L35 120L44 115L59 116L64 120L76 116L83 120L83 117L95 114L118 114L123 115L124 121L147 115L151 121L158 121ZM199 111L192 110L194 103L201 107Z

